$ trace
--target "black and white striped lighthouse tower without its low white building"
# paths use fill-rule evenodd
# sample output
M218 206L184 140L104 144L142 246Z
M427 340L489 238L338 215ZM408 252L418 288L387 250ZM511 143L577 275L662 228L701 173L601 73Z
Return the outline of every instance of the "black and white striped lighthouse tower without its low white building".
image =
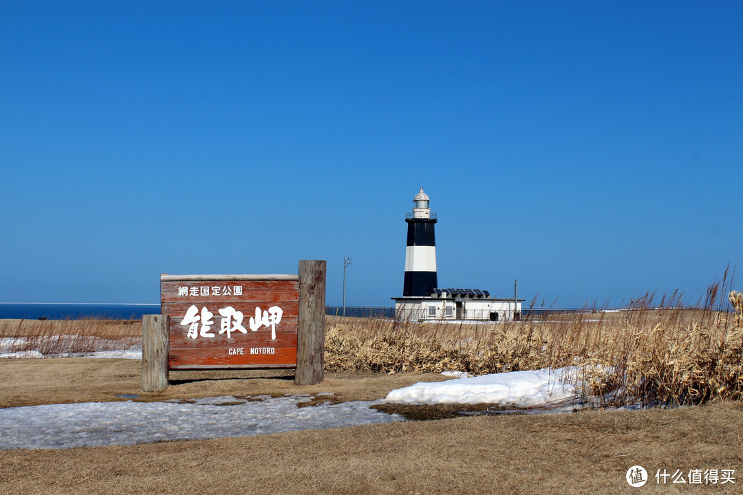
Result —
M436 240L433 226L436 214L431 213L428 195L423 188L413 198L413 211L408 212L408 244L405 253L405 283L403 297L426 296L437 287Z

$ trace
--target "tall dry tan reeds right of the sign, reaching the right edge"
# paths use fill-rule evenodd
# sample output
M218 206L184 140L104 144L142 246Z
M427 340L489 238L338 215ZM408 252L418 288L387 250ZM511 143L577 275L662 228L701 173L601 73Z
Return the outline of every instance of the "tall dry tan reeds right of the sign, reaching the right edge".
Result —
M575 312L497 324L327 320L325 367L335 372L474 375L574 367L600 405L701 404L743 399L743 295L727 311L710 289L705 309L652 296L617 312Z

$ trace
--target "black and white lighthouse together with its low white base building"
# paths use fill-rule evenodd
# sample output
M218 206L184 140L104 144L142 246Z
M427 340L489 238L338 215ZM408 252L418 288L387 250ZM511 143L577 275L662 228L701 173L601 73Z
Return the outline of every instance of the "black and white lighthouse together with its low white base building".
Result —
M490 298L480 289L439 289L436 272L434 226L436 215L429 209L423 188L413 198L413 211L406 215L408 239L403 296L395 300L395 318L412 321L518 319L524 299Z

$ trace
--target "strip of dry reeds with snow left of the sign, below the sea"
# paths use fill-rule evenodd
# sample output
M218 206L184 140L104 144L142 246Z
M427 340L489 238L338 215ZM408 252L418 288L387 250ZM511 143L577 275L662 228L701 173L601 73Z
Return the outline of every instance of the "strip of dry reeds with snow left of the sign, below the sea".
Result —
M48 356L141 347L141 320L0 320L1 353Z

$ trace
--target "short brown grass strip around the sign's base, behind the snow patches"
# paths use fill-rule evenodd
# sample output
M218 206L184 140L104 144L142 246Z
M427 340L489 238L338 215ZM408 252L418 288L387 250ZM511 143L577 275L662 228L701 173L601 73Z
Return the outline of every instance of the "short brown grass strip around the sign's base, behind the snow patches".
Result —
M294 384L293 370L175 371L165 392L142 392L141 361L136 359L0 359L0 407L89 401L193 399L225 395L279 395L331 392L343 401L369 401L416 381L441 375L326 373L312 387Z

